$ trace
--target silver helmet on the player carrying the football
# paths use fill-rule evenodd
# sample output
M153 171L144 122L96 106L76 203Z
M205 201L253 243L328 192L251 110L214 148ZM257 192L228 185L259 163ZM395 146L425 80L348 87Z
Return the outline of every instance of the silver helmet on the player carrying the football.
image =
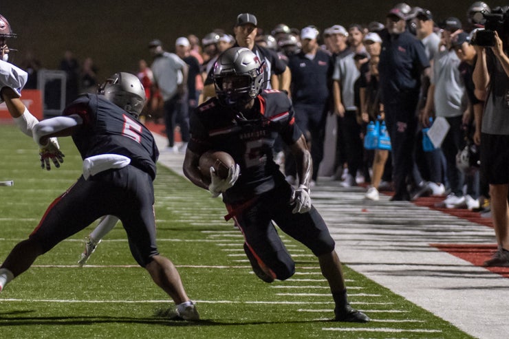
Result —
M232 47L217 58L213 80L221 105L235 107L256 98L263 89L264 63L246 47ZM225 78L234 78L231 86Z

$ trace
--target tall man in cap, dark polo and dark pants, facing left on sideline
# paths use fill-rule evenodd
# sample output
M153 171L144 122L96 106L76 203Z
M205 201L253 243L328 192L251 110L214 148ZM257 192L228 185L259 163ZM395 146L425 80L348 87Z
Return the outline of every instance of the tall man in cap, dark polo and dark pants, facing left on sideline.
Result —
M379 33L382 39L378 63L380 98L391 137L396 191L391 201L411 200L407 179L422 182L418 173L413 175L413 148L418 127L415 111L420 96L421 76L429 72L426 71L429 60L424 45L407 31L405 20L410 11L411 7L405 3L392 8L387 14L387 29Z

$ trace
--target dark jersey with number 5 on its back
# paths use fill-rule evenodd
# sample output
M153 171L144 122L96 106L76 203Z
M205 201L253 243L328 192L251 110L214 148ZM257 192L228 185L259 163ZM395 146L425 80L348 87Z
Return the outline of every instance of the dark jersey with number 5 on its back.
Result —
M92 155L119 154L131 165L155 178L159 151L152 133L129 113L104 96L85 94L67 106L64 116L78 114L83 124L72 140L83 159Z

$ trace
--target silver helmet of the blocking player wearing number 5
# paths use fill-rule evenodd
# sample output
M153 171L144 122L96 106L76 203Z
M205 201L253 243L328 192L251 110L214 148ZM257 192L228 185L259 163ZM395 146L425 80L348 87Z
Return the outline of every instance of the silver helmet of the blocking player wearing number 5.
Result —
M145 90L138 76L120 72L99 86L97 94L105 96L131 116L138 119L145 104Z

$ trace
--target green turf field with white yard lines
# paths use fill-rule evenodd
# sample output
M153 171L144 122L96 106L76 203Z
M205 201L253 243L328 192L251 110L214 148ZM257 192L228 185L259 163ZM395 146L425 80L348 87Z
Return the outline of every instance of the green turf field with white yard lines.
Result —
M30 138L0 125L0 262L34 229L45 208L80 175L72 140L59 169L43 171ZM158 246L177 265L202 320L164 316L173 303L136 266L119 224L76 266L94 225L63 241L0 293L2 338L470 338L345 266L350 301L373 319L331 322L332 297L318 261L282 235L297 273L266 284L250 270L242 237L223 219L224 206L160 166L155 181ZM166 312L167 313L167 312Z

